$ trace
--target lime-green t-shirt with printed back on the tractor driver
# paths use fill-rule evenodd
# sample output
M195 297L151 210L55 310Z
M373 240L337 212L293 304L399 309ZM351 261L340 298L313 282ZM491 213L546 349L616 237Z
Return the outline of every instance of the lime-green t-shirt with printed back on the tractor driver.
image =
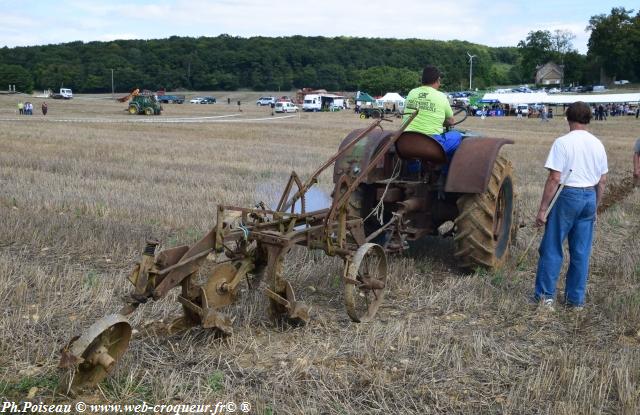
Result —
M405 120L418 109L418 115L405 131L431 135L442 134L444 120L453 116L447 96L430 86L414 88L407 95Z

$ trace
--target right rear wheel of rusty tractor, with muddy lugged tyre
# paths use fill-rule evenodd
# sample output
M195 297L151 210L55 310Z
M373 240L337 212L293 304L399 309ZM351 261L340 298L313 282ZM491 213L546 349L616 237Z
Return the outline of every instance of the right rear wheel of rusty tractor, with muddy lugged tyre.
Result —
M512 175L511 162L498 157L487 190L458 199L455 257L463 268L495 270L506 262L515 226Z

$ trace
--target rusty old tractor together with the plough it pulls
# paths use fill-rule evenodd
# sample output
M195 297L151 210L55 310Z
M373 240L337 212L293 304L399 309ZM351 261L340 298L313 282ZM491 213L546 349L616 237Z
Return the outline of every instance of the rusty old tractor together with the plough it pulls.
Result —
M307 323L310 309L285 275L284 258L295 246L342 258L343 301L358 323L371 321L384 300L387 254L410 241L453 236L461 266L503 266L515 228L514 183L511 163L498 153L512 141L467 136L448 164L434 140L405 132L417 113L397 130L384 130L381 118L352 131L307 181L292 172L273 208L219 204L216 223L191 246L158 249L160 241L148 239L122 308L62 349L61 385L70 393L95 387L129 345L128 316L170 292L178 291L182 305L170 332L200 326L231 335L229 306L245 291L241 285L264 293L274 321ZM418 151L417 140L430 144ZM331 206L306 211L309 189L332 166Z

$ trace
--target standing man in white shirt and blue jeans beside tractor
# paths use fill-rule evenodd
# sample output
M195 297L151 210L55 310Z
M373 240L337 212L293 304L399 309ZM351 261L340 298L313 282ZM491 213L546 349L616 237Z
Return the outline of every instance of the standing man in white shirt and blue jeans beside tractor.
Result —
M576 310L584 306L589 274L589 257L596 209L607 178L604 146L587 131L591 109L584 102L569 105L566 112L569 133L557 138L545 167L549 177L544 186L536 225L545 225L540 243L535 299L553 309L556 284L562 267L562 244L569 240L569 269L565 279L565 304ZM569 174L570 173L570 174ZM560 184L555 205L545 214Z

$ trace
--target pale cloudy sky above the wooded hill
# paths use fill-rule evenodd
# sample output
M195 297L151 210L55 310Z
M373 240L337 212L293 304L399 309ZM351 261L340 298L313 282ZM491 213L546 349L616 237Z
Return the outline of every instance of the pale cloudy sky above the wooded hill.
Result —
M605 4L606 3L606 4ZM530 31L575 34L629 0L0 0L0 47L170 36L355 36L516 46Z

